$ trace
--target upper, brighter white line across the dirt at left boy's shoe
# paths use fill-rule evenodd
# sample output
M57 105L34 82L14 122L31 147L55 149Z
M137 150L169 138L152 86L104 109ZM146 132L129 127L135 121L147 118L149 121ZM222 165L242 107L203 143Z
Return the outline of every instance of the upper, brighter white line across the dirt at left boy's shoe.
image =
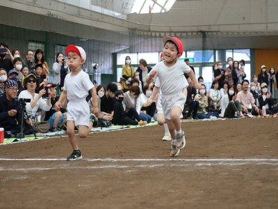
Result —
M65 158L0 158L0 161L65 161ZM85 158L83 161L88 162L278 162L275 158L195 158L195 159L181 159L181 158L127 158L127 159L117 159L117 158Z

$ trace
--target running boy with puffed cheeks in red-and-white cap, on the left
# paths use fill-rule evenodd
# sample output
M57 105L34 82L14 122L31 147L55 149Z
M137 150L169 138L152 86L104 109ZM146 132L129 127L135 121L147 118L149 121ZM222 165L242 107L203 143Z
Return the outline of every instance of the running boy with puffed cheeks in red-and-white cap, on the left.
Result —
M90 81L89 75L81 69L81 65L85 63L86 54L82 47L68 45L65 49L68 59L68 66L72 70L65 77L65 84L56 109L66 106L67 103L67 135L70 139L73 152L67 157L67 160L82 159L81 151L74 136L74 127L79 127L79 137L85 138L88 136L92 122L90 121L90 108L85 98L88 91L92 94L92 112L98 114L97 92L94 84ZM64 105L65 104L65 105Z

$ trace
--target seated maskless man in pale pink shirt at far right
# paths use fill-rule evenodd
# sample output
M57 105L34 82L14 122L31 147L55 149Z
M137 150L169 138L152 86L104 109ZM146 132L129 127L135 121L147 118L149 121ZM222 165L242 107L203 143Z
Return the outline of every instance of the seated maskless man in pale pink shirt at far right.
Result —
M243 112L245 114L251 113L253 116L257 116L259 114L259 108L256 107L254 97L249 89L249 81L244 80L242 83L243 90L238 92L236 96L236 100L240 102L241 107L243 108Z

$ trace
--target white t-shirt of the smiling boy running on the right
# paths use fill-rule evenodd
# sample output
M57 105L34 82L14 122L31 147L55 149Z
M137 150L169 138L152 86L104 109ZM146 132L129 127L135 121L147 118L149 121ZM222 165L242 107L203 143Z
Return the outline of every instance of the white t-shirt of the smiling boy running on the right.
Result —
M181 60L171 66L167 67L163 61L157 63L154 68L156 70L156 78L159 78L162 95L173 95L179 93L184 87L188 86L188 82L183 73L190 72L191 68ZM186 85L184 85L186 84Z

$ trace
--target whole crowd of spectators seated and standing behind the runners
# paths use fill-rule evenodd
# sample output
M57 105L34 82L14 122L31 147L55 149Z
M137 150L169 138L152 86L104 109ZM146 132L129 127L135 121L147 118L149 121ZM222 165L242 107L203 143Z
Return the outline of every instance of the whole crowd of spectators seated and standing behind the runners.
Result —
M189 63L189 59L185 62ZM204 78L198 82L202 88L197 90L188 79L188 96L183 111L185 119L234 118L277 114L278 72L271 67L266 70L261 65L259 75L246 79L245 61L227 59L227 67L222 61L213 65L213 81L206 91ZM98 121L111 121L115 125L145 125L151 123L157 114L157 98L149 100L154 83L147 84L146 78L152 70L145 59L140 59L137 70L126 56L122 67L122 78L108 86L97 85L99 114ZM54 79L49 83L49 74ZM22 123L22 110L26 109L24 126L30 127L35 121L49 121L49 131L63 129L66 125L66 109L56 111L57 93L63 91L65 76L70 72L62 52L56 55L52 68L45 61L42 49L26 52L23 59L19 49L10 52L5 43L0 43L0 127L5 129L5 137L19 132ZM29 100L26 104L19 101ZM23 102L24 103L24 102ZM92 105L90 96L88 104Z

